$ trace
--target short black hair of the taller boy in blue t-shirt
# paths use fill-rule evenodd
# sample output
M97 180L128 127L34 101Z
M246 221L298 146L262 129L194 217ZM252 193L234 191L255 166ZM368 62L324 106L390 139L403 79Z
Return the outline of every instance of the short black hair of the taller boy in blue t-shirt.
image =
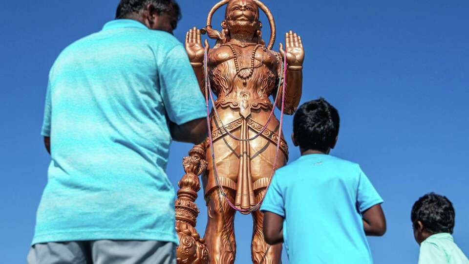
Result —
M304 150L327 152L339 134L339 112L324 98L302 104L293 118L295 141Z

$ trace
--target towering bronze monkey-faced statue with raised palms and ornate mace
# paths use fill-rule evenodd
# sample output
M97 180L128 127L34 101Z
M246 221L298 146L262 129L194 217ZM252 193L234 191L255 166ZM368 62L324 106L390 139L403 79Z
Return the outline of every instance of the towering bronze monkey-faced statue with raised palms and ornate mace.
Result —
M211 21L213 13L224 4L227 4L225 20L221 23L223 30L219 32L212 28ZM259 8L266 13L271 25L271 38L267 45L262 40ZM207 33L216 40L212 49L207 40L205 47L202 46L202 33ZM201 251L208 250L212 264L233 264L235 261L234 218L237 210L243 214L251 213L253 217L253 263L281 262L281 244L269 247L264 241L263 214L258 210L250 212L256 209L255 206L265 195L277 151L279 121L275 117L268 120L274 108L269 96L275 98L279 93L279 98L282 98L283 94L278 88L282 87L285 79L286 114L295 112L301 97L304 58L301 38L292 31L286 33L285 50L280 44L280 52L275 52L272 50L275 36L272 14L259 0L222 0L210 11L207 26L202 30L194 27L186 36L186 50L202 93L205 94L204 63L207 63L208 81L217 96L214 108L218 115L212 110L210 120L218 180L215 180L209 140L195 146L192 154L190 153L200 169L192 175L203 173L202 182L208 206L208 223L204 236L207 248L205 249L203 240L199 241L198 248ZM207 52L207 62L204 62L204 49ZM285 54L286 76L282 78ZM277 108L280 107L281 100L278 100ZM263 130L265 125L267 127ZM261 135L253 139L257 133ZM280 151L275 168L285 165L288 159L288 147L283 135L279 142ZM222 195L218 185L223 187L226 197ZM199 188L195 186L192 192ZM199 239L193 228L198 209L195 206L196 209L187 213L191 211L190 206L178 207L177 203L181 198L187 200L188 196L181 197L178 192L178 197L177 230L180 234L186 230L188 236ZM196 193L189 200L193 203L195 197ZM236 210L226 199L234 204ZM187 217L183 215L193 220L187 221ZM179 255L178 251L178 258ZM192 260L195 259L181 257L178 263L192 263Z

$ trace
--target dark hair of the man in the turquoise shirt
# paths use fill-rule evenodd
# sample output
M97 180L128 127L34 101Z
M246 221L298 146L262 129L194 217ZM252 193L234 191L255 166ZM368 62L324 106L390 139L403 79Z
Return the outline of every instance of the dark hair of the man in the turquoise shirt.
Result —
M158 15L171 14L177 21L181 19L181 9L175 0L121 0L117 6L116 19L129 18L152 3Z

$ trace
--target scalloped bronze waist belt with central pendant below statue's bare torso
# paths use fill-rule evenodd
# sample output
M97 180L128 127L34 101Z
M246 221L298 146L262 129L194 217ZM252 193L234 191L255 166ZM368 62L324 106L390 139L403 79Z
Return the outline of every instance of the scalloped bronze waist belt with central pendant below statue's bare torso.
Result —
M218 98L215 102L215 108L231 108L233 110L239 110L239 114L247 118L251 114L251 110L272 110L272 102L269 98L262 99L228 99Z

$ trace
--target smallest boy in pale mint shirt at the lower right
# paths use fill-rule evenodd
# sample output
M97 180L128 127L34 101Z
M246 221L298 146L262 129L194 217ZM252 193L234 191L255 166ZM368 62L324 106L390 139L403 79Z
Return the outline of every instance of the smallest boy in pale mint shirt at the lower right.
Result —
M420 245L419 264L469 264L451 236L454 216L453 204L444 196L430 193L414 203L410 219Z

